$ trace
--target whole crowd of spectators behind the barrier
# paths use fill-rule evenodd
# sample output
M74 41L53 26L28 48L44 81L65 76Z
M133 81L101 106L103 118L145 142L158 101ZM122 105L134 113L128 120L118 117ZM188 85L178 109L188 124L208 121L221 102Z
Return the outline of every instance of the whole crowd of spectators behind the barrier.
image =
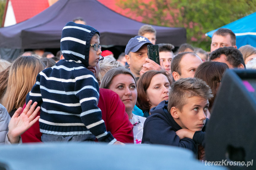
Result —
M77 22L77 23L76 23ZM256 48L237 49L226 28L211 52L159 43L150 25L139 29L117 60L101 51L100 33L81 18L62 30L61 51L32 51L0 60L0 143L105 142L183 147L204 158L206 125L226 69L255 68Z

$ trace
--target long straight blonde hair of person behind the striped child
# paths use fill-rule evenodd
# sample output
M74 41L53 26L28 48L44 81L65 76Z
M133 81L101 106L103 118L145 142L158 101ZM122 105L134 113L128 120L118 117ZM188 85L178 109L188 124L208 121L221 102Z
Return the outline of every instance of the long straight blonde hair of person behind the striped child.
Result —
M10 67L6 92L1 104L11 112L23 107L26 95L36 82L36 76L44 69L42 61L34 56L20 56Z

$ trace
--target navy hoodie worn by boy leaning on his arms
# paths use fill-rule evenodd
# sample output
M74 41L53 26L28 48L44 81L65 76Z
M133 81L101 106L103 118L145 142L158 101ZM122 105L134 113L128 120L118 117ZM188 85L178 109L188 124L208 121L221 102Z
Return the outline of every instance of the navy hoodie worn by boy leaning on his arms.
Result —
M196 131L193 139L179 139L176 131L182 129L167 110L168 101L162 101L150 110L150 116L144 122L142 143L172 145L187 148L197 153L196 144L204 144L205 126ZM208 120L206 119L206 122Z

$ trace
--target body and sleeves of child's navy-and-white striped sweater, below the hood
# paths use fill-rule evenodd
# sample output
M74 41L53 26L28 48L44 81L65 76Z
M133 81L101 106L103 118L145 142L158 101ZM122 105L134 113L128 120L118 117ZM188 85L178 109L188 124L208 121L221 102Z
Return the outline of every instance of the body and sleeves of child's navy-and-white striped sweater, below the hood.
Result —
M39 126L42 133L93 134L98 141L113 144L116 139L110 132L106 132L101 110L97 107L98 82L85 67L86 61L74 54L63 53L67 60L60 60L52 68L44 69L37 75L36 83L26 97L26 103L32 100L41 106Z

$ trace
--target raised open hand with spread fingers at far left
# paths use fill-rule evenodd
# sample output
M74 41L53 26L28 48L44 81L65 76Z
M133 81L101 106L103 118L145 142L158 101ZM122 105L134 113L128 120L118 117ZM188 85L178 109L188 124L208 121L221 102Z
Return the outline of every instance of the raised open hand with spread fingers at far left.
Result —
M40 116L37 116L36 118L35 116L40 110L40 107L38 106L35 109L37 102L34 102L32 106L31 103L32 100L28 102L21 114L21 107L13 114L8 126L8 139L10 143L18 143L20 140L20 135L26 132L26 130L28 130L36 121L39 120ZM29 108L30 106L31 108Z

